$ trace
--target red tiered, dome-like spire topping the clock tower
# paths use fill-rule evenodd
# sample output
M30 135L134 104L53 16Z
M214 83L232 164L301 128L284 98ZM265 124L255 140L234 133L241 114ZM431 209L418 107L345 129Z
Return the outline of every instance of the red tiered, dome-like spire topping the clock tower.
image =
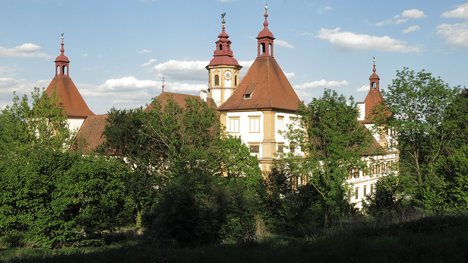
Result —
M216 41L216 49L213 54L214 58L210 61L210 63L207 65L207 67L211 65L236 65L238 67L241 67L239 65L239 62L234 58L234 54L231 50L231 41L229 40L229 35L226 34L225 31L225 24L226 21L224 21L224 16L226 13L221 14L222 20L222 31L221 34L218 35L219 40Z

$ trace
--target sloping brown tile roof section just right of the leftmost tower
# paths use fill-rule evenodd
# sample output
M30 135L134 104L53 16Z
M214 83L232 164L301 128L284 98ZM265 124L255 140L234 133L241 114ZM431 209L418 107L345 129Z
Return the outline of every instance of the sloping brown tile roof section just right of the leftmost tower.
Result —
M76 135L75 147L78 147L79 143L84 143L84 147L81 149L83 154L91 153L96 150L96 147L105 142L105 138L102 136L104 127L107 123L106 118L108 114L89 116L84 119L78 134Z

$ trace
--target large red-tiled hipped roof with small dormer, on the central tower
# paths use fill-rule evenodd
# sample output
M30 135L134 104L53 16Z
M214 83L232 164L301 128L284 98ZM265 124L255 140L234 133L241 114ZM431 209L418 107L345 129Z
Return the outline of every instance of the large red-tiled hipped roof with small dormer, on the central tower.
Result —
M301 100L275 58L263 56L255 59L239 86L217 110L279 109L297 111L299 103Z

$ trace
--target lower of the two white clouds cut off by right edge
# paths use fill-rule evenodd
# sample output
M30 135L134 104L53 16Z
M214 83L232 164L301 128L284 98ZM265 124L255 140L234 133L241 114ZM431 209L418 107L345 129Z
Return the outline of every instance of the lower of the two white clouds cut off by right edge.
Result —
M457 24L441 24L435 29L436 35L445 43L456 48L468 48L468 21Z

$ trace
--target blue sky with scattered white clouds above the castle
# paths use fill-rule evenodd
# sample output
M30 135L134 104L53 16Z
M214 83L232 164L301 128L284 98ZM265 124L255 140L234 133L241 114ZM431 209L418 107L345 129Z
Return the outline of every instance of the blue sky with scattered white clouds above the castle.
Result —
M331 88L364 100L375 57L380 87L408 67L468 84L468 2L268 1L274 56L305 103ZM265 1L0 0L0 109L54 77L64 32L69 73L89 108L145 106L165 91L199 94L226 12L244 67L257 55Z

